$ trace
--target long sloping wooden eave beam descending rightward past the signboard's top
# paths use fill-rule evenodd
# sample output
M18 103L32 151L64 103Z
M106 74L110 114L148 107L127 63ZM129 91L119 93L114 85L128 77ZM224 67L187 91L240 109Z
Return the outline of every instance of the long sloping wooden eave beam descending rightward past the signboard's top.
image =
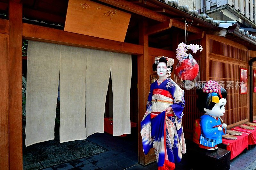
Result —
M125 0L98 0L113 6L116 6L118 8L124 9L126 11L130 11L133 12L135 14L139 14L141 16L150 18L150 19L154 19L156 21L160 21L160 22L166 22L172 18L165 16L163 14L159 14L155 11L152 11L150 9L144 8L140 5L137 4L133 4L131 2L125 1ZM172 19L172 26L175 26L177 28L183 29L185 30L185 21L178 21L176 19ZM200 28L197 28L195 26L190 26L188 27L188 31L192 32L192 33L200 33L202 32L202 30Z

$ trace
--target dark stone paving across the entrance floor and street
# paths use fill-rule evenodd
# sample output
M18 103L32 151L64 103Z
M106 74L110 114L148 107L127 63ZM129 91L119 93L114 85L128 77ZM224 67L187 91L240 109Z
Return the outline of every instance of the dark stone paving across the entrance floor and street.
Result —
M24 170L65 170L65 169L157 169L156 162L148 166L138 164L137 134L127 137L113 137L106 133L96 133L87 138L59 143L55 140L23 147ZM187 170L186 155L176 169ZM203 167L198 167L202 169ZM231 161L230 170L255 170L256 147L238 155Z

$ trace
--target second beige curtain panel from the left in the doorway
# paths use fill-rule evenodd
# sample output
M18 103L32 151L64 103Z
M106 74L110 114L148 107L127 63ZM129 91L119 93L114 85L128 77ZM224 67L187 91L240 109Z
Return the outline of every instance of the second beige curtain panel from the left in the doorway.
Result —
M85 76L89 50L61 46L60 143L86 139Z

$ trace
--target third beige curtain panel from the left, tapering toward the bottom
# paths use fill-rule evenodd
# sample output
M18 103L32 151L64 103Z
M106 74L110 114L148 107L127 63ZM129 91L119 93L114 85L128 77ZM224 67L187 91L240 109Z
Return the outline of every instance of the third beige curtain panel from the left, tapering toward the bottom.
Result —
M87 137L104 132L104 112L111 69L111 52L91 50L86 69Z

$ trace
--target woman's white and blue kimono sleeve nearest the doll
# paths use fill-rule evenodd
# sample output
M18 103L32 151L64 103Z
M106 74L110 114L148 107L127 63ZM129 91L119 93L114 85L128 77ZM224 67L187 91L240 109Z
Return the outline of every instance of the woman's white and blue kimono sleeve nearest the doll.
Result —
M183 116L183 110L185 107L184 100L184 90L182 90L176 83L172 92L173 104L171 105L173 113L177 116L178 119L181 119Z

